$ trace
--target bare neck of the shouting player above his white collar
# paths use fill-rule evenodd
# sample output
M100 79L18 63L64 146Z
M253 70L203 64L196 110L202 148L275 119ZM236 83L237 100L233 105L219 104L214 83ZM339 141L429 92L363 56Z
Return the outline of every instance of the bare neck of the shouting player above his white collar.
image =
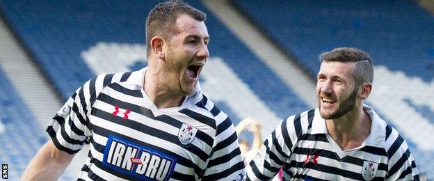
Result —
M154 72L148 68L145 72L143 89L157 108L179 107L184 100L184 95L179 91L171 90L166 79L163 72Z

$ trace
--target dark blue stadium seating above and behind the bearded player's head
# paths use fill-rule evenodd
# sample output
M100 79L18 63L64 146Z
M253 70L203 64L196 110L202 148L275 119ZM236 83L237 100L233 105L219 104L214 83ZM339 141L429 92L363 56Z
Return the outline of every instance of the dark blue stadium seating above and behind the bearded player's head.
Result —
M434 18L415 1L232 3L314 76L321 52L359 47L376 65L433 81Z

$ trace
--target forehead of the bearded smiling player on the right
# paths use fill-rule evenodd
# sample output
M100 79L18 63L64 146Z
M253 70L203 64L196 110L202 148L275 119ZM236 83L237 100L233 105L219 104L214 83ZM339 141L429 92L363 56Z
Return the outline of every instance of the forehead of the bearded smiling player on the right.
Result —
M348 77L352 76L355 69L354 62L323 61L318 74L329 76Z

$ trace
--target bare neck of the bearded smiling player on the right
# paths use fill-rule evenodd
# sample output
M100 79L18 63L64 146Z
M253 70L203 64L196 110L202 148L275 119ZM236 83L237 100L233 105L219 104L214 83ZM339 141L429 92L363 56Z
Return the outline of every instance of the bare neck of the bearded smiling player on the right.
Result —
M371 119L362 104L341 118L325 120L328 134L342 150L357 148L371 133Z

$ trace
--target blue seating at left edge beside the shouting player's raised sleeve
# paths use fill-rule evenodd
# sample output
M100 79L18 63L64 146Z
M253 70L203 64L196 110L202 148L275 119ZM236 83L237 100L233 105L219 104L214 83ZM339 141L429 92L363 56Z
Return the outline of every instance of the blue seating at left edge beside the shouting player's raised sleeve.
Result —
M0 163L8 164L8 178L18 180L24 168L47 141L40 125L20 100L0 69ZM61 180L71 180L63 175Z

